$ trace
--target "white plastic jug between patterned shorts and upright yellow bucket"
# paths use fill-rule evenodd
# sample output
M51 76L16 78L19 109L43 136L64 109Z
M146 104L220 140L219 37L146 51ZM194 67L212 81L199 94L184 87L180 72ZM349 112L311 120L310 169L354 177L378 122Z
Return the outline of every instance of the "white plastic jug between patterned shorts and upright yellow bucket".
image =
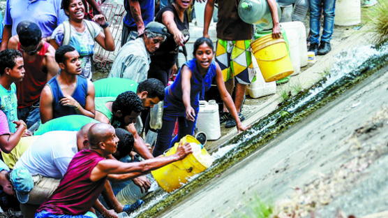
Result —
M276 82L265 82L258 66L258 61L253 58L253 67L256 72L256 80L248 85L248 93L253 99L276 93Z

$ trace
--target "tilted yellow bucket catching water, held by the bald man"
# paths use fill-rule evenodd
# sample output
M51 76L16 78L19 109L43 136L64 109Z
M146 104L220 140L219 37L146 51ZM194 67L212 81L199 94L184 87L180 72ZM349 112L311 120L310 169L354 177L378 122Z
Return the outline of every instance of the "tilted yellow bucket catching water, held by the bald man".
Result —
M182 143L191 143L193 154L188 154L181 161L170 163L162 168L152 171L152 175L159 186L167 192L179 189L188 181L188 178L201 173L213 162L213 158L207 153L207 150L200 148L200 142L193 136L185 136L181 138ZM179 143L175 143L174 147L165 152L164 156L170 156L177 152Z

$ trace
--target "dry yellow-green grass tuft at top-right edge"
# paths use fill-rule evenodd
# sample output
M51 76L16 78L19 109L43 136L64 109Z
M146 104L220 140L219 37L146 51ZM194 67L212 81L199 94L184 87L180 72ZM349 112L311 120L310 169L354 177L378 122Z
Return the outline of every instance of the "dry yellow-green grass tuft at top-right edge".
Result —
M380 0L375 6L366 10L368 22L373 26L375 43L380 44L388 40L388 1Z

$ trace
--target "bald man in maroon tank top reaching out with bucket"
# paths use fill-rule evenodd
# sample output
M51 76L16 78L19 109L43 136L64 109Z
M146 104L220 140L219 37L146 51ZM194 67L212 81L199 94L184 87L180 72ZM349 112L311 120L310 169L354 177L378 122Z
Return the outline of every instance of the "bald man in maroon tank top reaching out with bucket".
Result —
M70 161L68 170L52 196L40 206L35 217L85 215L103 190L107 177L124 175L133 178L149 173L190 154L186 143L167 157L157 157L137 163L122 163L106 159L117 150L117 138L110 124L94 124L88 133L90 150L82 150ZM112 174L112 175L111 175Z

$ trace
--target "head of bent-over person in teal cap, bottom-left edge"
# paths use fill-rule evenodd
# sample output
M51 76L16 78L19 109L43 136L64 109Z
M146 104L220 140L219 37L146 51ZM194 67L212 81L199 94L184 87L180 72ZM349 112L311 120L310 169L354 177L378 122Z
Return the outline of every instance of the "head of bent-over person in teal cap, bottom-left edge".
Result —
M26 168L10 170L6 163L0 160L0 185L6 194L16 194L22 203L29 201L29 191L33 188L31 174Z

